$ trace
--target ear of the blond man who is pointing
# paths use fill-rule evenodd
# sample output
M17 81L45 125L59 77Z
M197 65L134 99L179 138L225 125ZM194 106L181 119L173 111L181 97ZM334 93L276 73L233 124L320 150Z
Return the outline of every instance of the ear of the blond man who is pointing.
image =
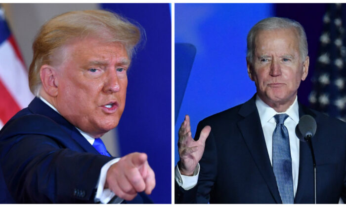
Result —
M49 65L43 65L40 69L40 77L45 93L51 97L56 97L59 85L56 69Z

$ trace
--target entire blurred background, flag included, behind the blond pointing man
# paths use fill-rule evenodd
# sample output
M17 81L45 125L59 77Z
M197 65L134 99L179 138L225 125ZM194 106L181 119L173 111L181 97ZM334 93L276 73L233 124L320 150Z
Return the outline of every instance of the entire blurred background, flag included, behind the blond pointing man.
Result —
M135 151L147 153L156 177L156 187L150 197L154 203L170 204L170 4L2 3L1 6L0 128L33 99L27 69L32 60L32 42L45 21L67 11L103 8L130 18L144 28L147 41L132 58L125 111L118 127L102 139L113 156Z

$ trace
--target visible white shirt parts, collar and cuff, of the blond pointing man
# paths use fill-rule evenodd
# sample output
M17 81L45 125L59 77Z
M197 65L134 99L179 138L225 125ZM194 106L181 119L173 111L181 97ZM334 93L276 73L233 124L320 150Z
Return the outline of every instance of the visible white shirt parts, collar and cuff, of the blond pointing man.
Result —
M47 104L49 107L51 107L54 111L59 113L59 111L52 104L47 102L41 96L40 96L40 99L45 104ZM87 141L91 145L94 143L95 138L92 138L90 135L88 135L87 133L85 133L82 130L78 129L77 127L76 127L76 129L82 134L82 136L84 138L87 139ZM104 164L102 166L101 171L100 171L100 176L98 177L98 182L97 182L97 185L96 185L97 190L96 190L96 195L95 195L95 198L94 198L95 202L100 202L102 204L107 204L115 196L113 191L111 191L110 189L108 189L108 188L104 189L104 184L106 182L106 175L107 175L108 169L111 167L111 165L113 165L114 163L118 162L119 160L120 160L120 158L115 158L113 160L110 160L109 162L107 162L106 164ZM116 203L121 203L122 201L123 201L123 199L117 198L115 202Z

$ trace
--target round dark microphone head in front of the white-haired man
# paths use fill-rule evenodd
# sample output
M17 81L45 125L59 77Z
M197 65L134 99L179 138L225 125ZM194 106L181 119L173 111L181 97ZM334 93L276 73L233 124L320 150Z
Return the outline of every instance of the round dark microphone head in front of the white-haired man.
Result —
M316 121L310 115L303 115L296 126L296 135L301 141L308 141L316 133Z

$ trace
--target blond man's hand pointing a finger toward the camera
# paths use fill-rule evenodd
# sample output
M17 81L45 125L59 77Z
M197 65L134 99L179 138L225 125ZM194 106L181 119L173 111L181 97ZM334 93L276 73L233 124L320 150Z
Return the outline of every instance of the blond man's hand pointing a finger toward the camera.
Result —
M155 183L155 174L148 164L147 155L134 152L122 157L108 169L105 188L130 201L137 192L151 194Z

